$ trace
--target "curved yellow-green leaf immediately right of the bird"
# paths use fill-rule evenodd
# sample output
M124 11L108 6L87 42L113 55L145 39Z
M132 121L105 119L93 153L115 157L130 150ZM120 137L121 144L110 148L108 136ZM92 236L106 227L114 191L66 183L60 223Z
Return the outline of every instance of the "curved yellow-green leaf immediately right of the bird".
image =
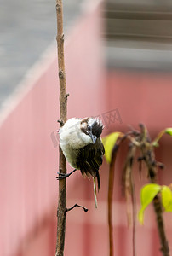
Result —
M123 133L117 131L117 132L112 132L111 134L102 138L102 142L105 148L105 157L108 163L111 163L112 149L115 146L115 143L117 142L118 137L122 137L122 136L123 136Z

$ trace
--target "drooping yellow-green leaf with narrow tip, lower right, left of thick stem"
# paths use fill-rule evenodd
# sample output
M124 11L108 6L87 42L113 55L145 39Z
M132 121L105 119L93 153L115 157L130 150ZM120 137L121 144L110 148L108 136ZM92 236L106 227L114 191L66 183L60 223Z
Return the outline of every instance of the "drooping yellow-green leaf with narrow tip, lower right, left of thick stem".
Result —
M152 202L153 198L161 190L161 186L158 184L147 184L140 191L141 208L138 213L138 219L140 224L144 223L144 212L146 207Z

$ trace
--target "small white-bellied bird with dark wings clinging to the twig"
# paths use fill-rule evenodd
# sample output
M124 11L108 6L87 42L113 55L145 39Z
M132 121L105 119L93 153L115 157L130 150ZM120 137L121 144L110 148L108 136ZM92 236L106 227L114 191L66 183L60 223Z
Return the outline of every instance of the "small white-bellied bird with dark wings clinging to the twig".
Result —
M105 149L100 134L103 130L100 119L72 118L68 119L60 128L60 148L69 164L75 168L72 172L80 170L83 177L93 177L95 207L97 207L96 180L100 190L99 168L102 164ZM69 177L70 173L59 173L58 180Z

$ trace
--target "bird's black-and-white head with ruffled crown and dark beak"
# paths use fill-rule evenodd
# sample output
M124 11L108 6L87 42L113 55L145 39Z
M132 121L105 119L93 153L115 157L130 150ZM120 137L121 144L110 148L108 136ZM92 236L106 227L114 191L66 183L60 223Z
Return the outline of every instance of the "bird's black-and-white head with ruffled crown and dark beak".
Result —
M92 142L95 144L95 141L103 130L103 124L100 119L95 118L84 118L81 119L81 131L88 135Z

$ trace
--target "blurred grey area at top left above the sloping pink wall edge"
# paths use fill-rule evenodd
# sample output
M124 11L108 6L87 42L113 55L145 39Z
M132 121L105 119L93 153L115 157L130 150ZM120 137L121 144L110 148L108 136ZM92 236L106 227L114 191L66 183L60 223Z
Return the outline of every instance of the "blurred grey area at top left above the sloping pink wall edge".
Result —
M0 10L0 106L40 59L49 44L56 44L56 13L53 1L1 0ZM82 0L64 3L64 28L69 32L82 13ZM13 82L12 82L13 81Z

